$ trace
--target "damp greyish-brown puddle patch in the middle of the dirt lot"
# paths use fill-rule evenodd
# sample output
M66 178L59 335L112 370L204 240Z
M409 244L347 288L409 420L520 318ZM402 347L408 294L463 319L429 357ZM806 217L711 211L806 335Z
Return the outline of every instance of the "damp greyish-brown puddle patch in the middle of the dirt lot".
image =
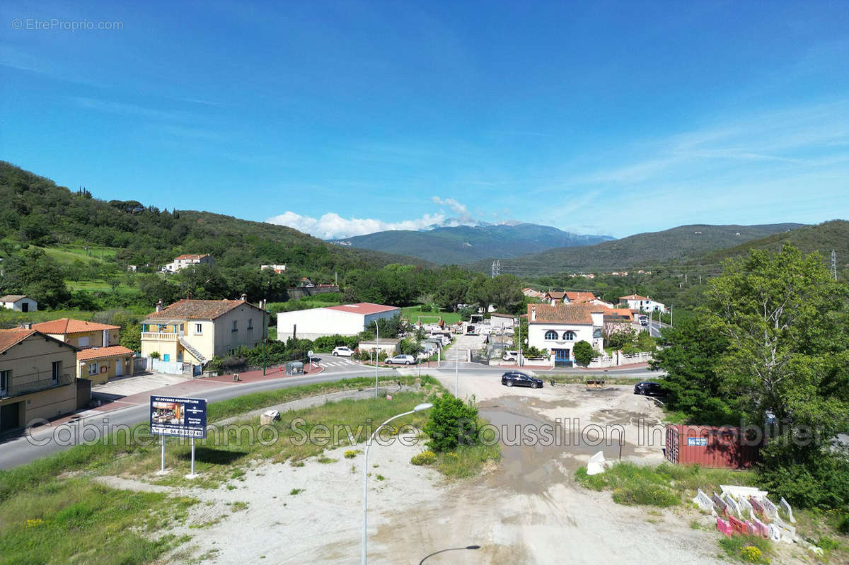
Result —
M593 422L597 425L582 428L578 422L568 419L549 420L534 411L540 406L556 408L568 405L512 397L486 402L478 407L481 417L498 430L501 441L503 473L491 476L490 479L496 483L493 486L542 495L550 484L564 480L564 469L571 473L582 466L582 459L576 456L592 456L604 451L604 457L609 460L619 457L619 436L611 428L606 428L605 422ZM610 434L611 437L604 435L597 444L599 434ZM492 435L487 438L485 434L484 437L489 439ZM622 456L634 453L633 447L628 444L622 446Z

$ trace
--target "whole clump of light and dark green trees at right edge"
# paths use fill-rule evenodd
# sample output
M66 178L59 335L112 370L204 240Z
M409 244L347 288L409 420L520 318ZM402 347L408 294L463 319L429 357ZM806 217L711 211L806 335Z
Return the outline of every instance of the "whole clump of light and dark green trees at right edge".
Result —
M655 368L693 423L766 436L764 487L800 506L849 507L849 288L790 246L730 260L699 316L663 332Z

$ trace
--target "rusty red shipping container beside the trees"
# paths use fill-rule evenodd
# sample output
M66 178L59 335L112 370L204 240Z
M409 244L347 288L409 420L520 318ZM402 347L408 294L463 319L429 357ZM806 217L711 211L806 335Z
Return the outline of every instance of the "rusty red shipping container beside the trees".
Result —
M740 428L733 426L667 424L666 460L698 463L702 467L747 469L757 461L763 442L760 438L741 436Z

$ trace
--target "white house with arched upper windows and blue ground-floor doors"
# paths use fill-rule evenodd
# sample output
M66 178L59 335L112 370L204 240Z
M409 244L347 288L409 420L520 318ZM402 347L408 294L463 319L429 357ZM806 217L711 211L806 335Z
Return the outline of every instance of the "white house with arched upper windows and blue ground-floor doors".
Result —
M599 352L604 350L603 306L529 304L527 316L528 345L548 350L548 361L555 366L571 366L579 341L588 342Z

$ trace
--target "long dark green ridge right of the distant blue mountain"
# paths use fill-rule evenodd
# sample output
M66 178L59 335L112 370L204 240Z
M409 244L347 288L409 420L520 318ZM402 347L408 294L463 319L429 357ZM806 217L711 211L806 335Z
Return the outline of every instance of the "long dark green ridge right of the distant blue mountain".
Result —
M710 226L694 224L673 227L662 232L638 233L627 238L585 247L548 249L543 253L501 260L504 273L521 276L553 274L564 271L651 269L670 263L685 263L734 247L753 239L783 234L803 224L766 224L762 226ZM479 271L488 271L492 260L475 263Z

